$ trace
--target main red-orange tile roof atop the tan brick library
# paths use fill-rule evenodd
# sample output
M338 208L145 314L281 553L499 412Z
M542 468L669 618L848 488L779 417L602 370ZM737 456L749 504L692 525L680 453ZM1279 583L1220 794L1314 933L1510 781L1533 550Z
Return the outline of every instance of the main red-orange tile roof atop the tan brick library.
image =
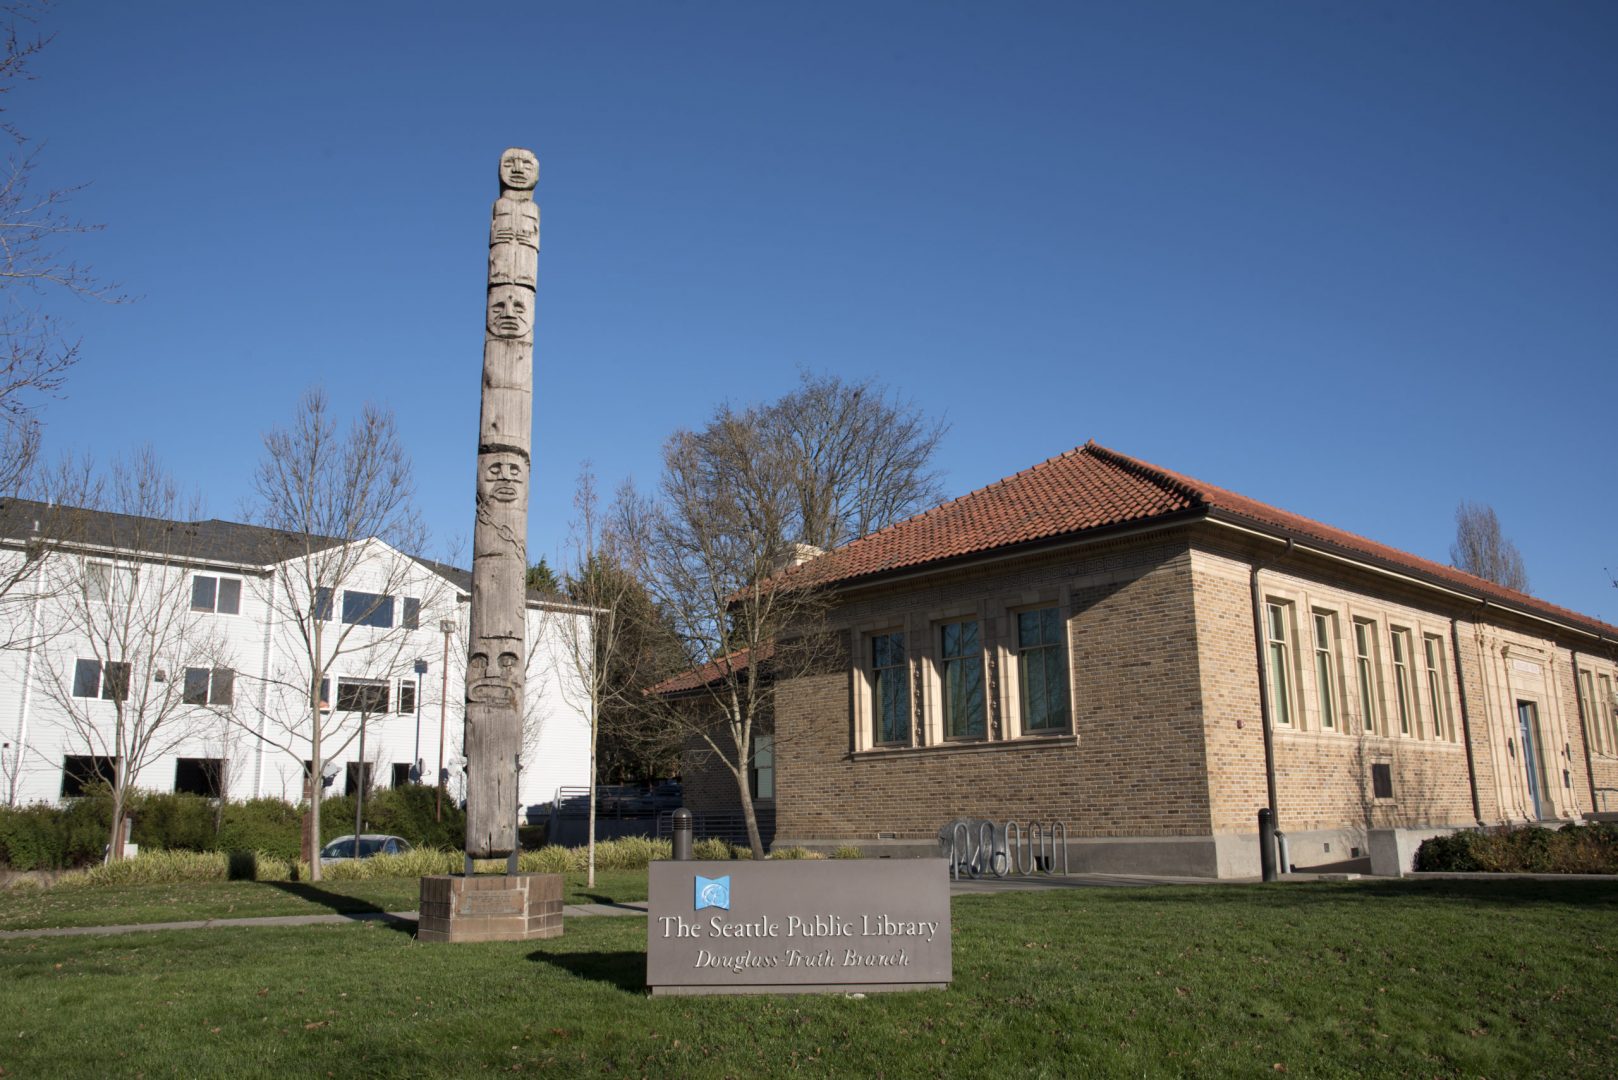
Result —
M1587 615L1547 604L1395 547L1278 510L1225 487L1086 442L987 487L951 499L786 572L806 585L846 585L913 567L1076 539L1107 528L1214 518L1314 544L1477 599L1618 636Z

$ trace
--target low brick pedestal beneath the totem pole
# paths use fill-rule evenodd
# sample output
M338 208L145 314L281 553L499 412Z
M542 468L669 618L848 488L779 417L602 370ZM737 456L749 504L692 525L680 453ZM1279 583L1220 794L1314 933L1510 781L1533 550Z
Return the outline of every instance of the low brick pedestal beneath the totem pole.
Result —
M416 941L531 941L561 936L561 874L421 879Z

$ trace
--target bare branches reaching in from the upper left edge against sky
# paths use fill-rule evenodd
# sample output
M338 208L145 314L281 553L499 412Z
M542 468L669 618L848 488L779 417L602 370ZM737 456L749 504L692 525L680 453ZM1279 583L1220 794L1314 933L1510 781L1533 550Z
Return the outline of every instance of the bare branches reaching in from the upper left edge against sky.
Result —
M32 23L49 3L0 6L0 100L18 83L32 79L31 63L50 36ZM0 108L3 112L3 108ZM39 455L40 398L55 395L79 359L60 321L39 306L49 291L120 301L116 287L66 254L68 238L95 232L74 219L66 204L78 188L39 189L37 151L11 123L0 123L11 151L0 165L0 495L26 484Z

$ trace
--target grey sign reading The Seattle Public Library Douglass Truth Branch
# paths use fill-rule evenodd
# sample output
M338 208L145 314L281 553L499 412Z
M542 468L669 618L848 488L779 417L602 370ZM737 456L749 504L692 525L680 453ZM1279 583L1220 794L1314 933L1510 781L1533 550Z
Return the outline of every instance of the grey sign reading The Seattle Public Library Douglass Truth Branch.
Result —
M942 858L659 861L649 868L654 994L943 989Z

